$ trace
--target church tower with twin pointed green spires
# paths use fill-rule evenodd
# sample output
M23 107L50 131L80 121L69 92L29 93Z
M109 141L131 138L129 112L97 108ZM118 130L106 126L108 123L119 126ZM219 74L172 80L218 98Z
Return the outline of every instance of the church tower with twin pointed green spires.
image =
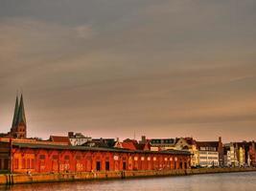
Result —
M22 95L19 103L18 97L16 97L10 135L12 138L27 138L27 122Z

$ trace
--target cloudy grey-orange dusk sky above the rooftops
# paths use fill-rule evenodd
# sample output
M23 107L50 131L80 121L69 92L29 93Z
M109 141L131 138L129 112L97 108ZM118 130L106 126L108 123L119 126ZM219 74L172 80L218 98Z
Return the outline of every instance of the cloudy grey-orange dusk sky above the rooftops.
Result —
M0 132L256 139L255 0L0 0Z

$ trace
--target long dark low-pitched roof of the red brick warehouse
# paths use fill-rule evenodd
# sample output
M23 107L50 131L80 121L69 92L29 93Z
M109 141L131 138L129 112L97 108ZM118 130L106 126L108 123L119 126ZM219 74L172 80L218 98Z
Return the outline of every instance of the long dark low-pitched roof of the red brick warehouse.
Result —
M56 149L56 150L77 150L77 151L108 151L108 152L121 152L121 153L145 153L145 154L173 154L173 155L191 155L187 151L176 151L176 150L167 150L167 151L130 151L125 149L118 148L101 148L101 147L86 147L86 146L65 146L65 145L51 145L51 144L31 144L31 143L20 143L13 142L13 147L18 148L30 148L30 149Z

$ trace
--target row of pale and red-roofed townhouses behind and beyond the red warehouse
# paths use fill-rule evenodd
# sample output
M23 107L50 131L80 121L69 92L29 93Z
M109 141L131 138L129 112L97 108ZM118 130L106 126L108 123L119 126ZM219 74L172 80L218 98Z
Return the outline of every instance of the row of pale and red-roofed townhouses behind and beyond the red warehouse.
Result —
M194 167L256 166L254 141L223 144L221 138L217 141L198 141L194 138L148 139L145 136L140 141L129 138L120 141L119 138L88 138L73 132L68 135L72 145L116 147L128 150L189 151L191 153L191 166Z

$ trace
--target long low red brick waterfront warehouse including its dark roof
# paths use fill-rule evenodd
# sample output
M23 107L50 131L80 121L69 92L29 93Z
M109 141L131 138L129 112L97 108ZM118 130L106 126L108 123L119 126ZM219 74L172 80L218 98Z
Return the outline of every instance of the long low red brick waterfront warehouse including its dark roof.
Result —
M60 173L190 168L184 151L128 151L84 146L0 142L5 148L1 170L12 173ZM2 159L1 159L2 161Z

